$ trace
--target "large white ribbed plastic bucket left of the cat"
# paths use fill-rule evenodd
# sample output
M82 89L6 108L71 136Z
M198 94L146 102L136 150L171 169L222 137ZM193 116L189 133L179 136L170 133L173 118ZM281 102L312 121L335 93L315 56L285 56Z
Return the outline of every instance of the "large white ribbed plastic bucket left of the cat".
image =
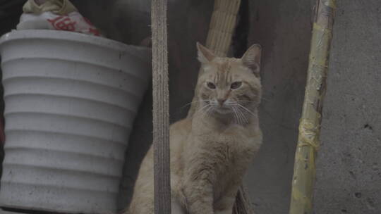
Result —
M73 32L0 39L5 100L2 207L116 210L124 153L150 80L150 49Z

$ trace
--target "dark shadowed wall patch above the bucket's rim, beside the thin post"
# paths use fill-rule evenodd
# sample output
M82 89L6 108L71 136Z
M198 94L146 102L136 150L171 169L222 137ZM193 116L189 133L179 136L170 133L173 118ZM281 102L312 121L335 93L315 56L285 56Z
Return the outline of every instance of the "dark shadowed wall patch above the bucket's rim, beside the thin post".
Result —
M150 37L150 1L72 0L109 39L138 45Z

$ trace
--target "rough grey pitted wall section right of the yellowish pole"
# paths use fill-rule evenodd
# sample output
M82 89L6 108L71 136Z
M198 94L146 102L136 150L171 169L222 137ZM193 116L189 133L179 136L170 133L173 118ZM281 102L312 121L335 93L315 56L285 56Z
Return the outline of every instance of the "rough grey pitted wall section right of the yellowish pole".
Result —
M381 213L381 1L337 1L316 214Z

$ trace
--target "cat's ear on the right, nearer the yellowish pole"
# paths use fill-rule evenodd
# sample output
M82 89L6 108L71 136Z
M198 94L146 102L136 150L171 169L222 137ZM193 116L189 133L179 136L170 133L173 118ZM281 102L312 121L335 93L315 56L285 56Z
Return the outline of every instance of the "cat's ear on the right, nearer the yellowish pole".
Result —
M253 73L258 77L260 75L261 56L262 47L259 44L253 44L241 58L243 65L250 68L250 70L253 70Z

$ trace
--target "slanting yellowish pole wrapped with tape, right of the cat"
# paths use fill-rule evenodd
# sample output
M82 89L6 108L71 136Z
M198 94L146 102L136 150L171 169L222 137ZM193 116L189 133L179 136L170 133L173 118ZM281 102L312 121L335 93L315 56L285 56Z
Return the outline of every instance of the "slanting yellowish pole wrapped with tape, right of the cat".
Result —
M334 0L317 0L306 94L295 154L290 214L313 213L315 158L320 145L322 103L326 89L335 8Z

